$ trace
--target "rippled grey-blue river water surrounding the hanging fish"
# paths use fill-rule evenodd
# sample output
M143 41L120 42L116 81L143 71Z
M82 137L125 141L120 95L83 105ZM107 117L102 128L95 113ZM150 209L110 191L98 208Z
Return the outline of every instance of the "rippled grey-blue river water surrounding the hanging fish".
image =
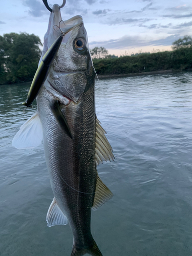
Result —
M115 162L98 166L114 197L92 211L103 256L192 255L192 73L96 82L97 117ZM30 84L0 87L0 255L69 256L69 225L47 227L53 198L42 144L11 140L35 112Z

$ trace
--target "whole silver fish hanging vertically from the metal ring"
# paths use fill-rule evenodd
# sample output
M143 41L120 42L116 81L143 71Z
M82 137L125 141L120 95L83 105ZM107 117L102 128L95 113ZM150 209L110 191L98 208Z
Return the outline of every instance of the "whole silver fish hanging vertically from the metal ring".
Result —
M43 141L54 195L46 217L48 226L69 222L71 256L102 256L91 233L91 210L113 197L97 172L98 164L114 160L113 150L96 116L95 71L82 17L77 15L61 25L59 6L55 4L52 10L44 52L60 30L73 29L63 36L40 85L37 112L20 127L12 145L31 148ZM59 29L55 31L54 25Z

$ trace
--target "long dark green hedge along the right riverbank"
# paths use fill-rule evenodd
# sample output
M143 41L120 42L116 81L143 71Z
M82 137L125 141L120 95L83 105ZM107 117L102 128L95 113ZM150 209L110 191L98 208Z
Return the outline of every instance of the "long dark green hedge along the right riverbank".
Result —
M94 59L98 75L129 74L161 70L186 70L192 68L192 47L175 51L143 53L113 59Z

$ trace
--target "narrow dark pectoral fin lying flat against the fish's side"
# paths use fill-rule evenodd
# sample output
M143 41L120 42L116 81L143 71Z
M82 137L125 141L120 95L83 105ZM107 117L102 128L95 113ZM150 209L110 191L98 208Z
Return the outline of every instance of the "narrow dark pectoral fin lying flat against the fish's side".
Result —
M67 123L67 120L65 118L65 116L62 114L60 108L59 108L59 102L55 101L52 105L51 105L51 110L55 116L55 118L57 119L57 121L59 122L60 126L62 127L62 129L66 132L66 134L73 139L72 133L70 131L70 127Z

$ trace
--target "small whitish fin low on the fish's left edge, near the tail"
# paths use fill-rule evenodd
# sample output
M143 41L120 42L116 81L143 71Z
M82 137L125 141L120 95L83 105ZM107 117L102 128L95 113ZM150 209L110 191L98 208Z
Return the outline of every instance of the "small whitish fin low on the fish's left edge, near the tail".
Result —
M68 224L68 219L57 205L55 198L53 198L53 201L49 206L46 221L48 227Z

